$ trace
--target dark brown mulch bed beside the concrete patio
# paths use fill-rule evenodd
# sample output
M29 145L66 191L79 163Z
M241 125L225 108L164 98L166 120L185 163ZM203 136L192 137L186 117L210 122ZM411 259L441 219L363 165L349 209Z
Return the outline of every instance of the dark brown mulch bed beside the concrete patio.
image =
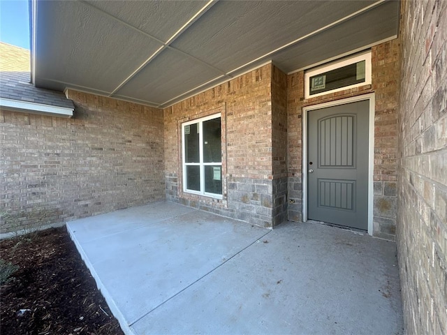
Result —
M123 334L65 227L0 242L0 334ZM22 310L22 311L20 311Z

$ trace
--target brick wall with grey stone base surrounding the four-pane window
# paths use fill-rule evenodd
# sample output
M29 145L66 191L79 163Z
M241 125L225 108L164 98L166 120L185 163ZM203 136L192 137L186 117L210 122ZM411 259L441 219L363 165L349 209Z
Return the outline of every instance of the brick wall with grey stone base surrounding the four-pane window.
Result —
M279 87L273 103L272 81ZM275 218L281 220L277 207L284 207L286 192L278 192L283 193L279 200L281 196L273 198L273 189L283 190L284 183L274 177L286 175L284 98L285 75L268 64L166 108L167 198L256 225L271 227L277 223ZM182 192L181 124L217 112L222 115L225 137L222 141L223 200ZM275 145L284 145L274 151L273 141ZM274 171L277 171L275 176Z

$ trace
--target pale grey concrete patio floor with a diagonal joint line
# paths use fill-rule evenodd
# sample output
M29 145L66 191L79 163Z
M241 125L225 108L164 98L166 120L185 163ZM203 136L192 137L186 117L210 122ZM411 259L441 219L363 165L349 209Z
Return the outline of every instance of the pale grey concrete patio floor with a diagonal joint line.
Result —
M390 241L170 202L67 228L126 334L404 334Z

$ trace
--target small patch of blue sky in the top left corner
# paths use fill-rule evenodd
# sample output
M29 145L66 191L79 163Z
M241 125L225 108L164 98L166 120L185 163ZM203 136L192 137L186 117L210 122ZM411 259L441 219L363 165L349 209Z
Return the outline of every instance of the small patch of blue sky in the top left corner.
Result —
M0 0L0 41L29 50L28 0Z

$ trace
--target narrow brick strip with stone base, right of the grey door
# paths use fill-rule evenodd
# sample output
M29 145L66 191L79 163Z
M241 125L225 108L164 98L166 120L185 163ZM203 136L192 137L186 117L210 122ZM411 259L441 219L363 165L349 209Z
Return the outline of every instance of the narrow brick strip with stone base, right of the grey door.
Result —
M397 205L397 105L400 40L372 48L374 112L374 235L394 239Z

